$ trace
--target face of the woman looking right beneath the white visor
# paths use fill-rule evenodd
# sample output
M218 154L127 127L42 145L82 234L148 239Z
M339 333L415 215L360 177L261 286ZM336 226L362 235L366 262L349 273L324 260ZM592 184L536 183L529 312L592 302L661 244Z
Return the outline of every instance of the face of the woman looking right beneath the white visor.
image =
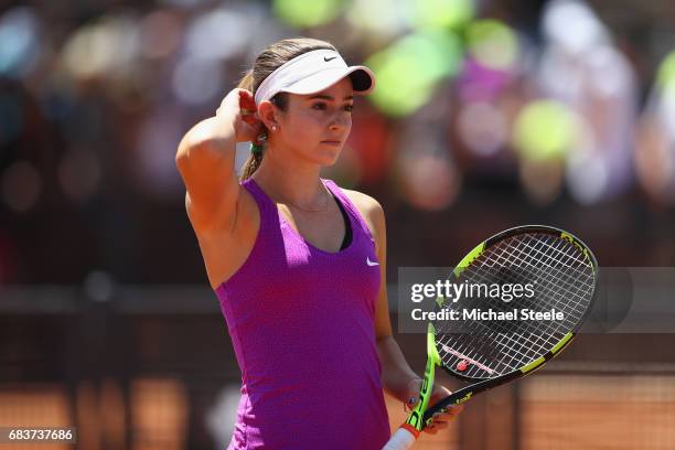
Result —
M275 138L298 158L334 164L352 129L353 94L349 77L317 94L288 94Z

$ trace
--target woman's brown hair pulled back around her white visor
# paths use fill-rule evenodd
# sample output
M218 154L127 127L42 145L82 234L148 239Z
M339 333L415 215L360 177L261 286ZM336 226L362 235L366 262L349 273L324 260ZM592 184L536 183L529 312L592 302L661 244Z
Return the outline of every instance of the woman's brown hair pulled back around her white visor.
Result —
M335 47L328 42L319 41L310 38L294 38L285 39L276 42L265 49L254 63L253 68L249 68L244 77L239 81L238 88L250 90L254 96L260 84L267 78L272 72L281 67L290 60L300 56L303 53L312 52L314 50L335 50ZM275 95L271 100L279 109L286 110L288 106L288 95L286 93L279 93ZM267 132L267 130L266 130ZM244 171L242 172L242 181L248 179L253 173L260 167L262 161L262 152L251 153Z

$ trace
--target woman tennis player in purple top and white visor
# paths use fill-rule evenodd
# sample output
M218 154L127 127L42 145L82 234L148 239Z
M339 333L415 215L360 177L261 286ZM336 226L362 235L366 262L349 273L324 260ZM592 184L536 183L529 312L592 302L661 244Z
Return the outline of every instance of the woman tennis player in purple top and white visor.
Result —
M392 338L382 206L320 178L350 135L353 96L374 86L331 44L283 40L179 144L188 215L242 369L229 449L379 450L383 388L417 403L420 377ZM235 143L247 141L237 180Z

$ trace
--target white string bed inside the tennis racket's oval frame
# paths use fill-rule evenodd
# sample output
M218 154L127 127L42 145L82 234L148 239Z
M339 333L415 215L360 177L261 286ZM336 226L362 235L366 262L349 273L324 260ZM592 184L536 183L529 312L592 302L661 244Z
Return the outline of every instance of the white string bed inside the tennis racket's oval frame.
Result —
M506 238L486 249L461 274L468 283L532 282L535 296L519 298L521 309L565 314L564 321L463 321L461 330L453 322L437 322L438 350L443 364L468 360L461 375L494 377L517 369L547 353L581 321L594 289L594 270L586 255L574 244L547 234L523 234ZM447 302L444 309L485 309L505 311L511 304L500 299L461 299ZM454 324L456 325L456 324ZM459 332L459 333L458 333Z

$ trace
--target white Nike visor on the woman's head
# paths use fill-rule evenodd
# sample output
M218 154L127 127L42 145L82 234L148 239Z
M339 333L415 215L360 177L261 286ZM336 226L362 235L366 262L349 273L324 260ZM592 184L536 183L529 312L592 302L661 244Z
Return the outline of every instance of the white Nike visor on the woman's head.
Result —
M375 74L366 66L347 66L340 53L314 50L283 64L260 83L256 105L278 93L308 95L330 87L349 76L354 94L365 95L375 87Z

